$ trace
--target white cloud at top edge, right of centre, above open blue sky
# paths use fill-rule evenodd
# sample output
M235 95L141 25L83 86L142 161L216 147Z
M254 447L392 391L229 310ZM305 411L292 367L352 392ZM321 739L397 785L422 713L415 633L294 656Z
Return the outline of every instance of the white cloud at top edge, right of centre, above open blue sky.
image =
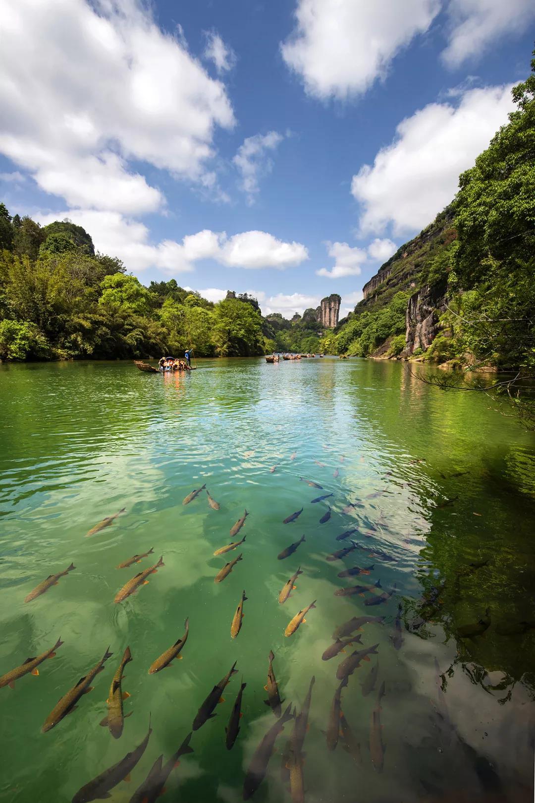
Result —
M428 30L439 0L298 0L282 58L322 100L365 92L396 53Z

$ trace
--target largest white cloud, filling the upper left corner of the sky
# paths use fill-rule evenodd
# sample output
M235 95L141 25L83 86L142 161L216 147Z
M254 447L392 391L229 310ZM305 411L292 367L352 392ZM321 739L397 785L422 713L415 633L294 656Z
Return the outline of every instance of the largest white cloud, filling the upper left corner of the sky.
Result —
M72 206L138 214L164 198L132 161L201 181L233 109L137 0L0 0L0 152ZM36 43L46 42L46 47Z

